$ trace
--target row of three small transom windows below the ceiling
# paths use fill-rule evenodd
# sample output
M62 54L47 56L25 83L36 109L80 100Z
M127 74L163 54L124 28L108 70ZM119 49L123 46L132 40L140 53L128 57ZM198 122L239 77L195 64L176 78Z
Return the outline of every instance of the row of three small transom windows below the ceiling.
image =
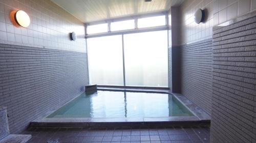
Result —
M124 18L108 19L93 23L87 23L87 37L92 34L106 35L107 33L120 32L129 30L147 30L148 28L163 28L167 27L166 21L168 20L167 13L158 13L149 15L137 15ZM103 22L103 23L102 23ZM100 23L100 24L95 24Z

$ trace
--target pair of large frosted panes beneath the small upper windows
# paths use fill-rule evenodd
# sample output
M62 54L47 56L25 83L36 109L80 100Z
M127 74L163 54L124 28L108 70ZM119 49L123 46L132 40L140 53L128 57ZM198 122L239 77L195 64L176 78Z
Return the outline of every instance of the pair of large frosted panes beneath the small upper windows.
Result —
M167 31L89 38L87 45L91 84L168 87Z

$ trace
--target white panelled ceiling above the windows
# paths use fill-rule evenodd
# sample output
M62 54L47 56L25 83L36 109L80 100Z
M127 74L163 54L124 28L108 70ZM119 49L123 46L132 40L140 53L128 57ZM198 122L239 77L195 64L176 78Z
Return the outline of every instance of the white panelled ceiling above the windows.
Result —
M184 0L51 0L82 22L167 11Z

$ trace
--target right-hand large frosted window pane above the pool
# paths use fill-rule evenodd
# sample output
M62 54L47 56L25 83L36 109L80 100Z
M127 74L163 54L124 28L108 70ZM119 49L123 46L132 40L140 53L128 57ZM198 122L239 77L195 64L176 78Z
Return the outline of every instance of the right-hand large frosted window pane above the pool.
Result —
M167 31L124 35L126 85L168 87Z

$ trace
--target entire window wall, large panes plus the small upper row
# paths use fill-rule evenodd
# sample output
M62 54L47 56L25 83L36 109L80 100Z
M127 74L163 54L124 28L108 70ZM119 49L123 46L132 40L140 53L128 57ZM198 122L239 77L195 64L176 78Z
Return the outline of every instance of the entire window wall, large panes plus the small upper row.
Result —
M88 23L90 83L168 87L167 19L158 13Z

